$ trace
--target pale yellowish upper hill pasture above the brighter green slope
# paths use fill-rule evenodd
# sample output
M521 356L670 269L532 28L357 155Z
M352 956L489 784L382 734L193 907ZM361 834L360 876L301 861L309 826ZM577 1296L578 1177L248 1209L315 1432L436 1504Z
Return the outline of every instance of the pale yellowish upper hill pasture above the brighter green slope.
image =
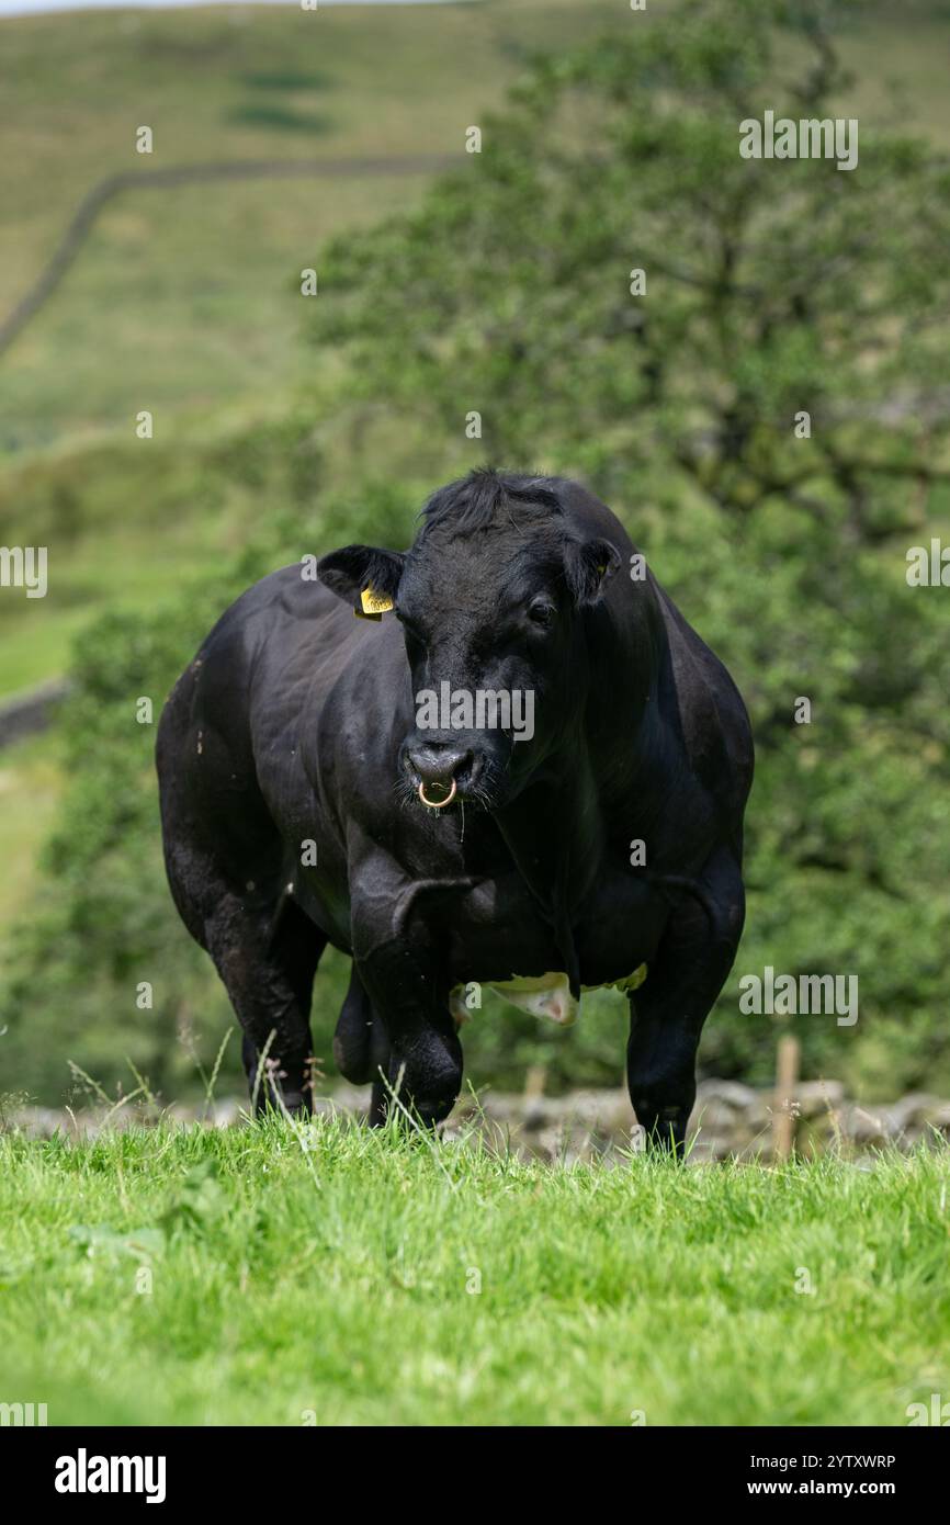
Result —
M528 50L584 35L605 0L213 6L3 21L18 149L0 165L0 314L104 175L235 160L459 154ZM136 152L137 127L154 151ZM0 361L0 448L261 398L305 377L299 271L332 233L418 200L422 175L125 191ZM9 215L9 210L14 215ZM296 278L296 279L294 279Z

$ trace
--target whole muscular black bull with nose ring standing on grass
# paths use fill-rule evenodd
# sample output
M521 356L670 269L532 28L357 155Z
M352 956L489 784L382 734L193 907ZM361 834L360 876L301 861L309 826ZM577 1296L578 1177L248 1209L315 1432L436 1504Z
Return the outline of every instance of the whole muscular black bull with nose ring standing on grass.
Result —
M752 740L729 674L610 509L561 479L473 473L404 555L349 546L307 570L227 610L159 729L172 895L239 1017L252 1095L307 1109L332 942L352 956L334 1054L374 1081L374 1121L393 1093L447 1116L477 985L561 1022L616 985L637 1119L682 1145L744 915ZM354 619L374 602L393 613ZM453 702L427 727L424 691ZM531 695L534 734L456 708L485 692L522 715Z

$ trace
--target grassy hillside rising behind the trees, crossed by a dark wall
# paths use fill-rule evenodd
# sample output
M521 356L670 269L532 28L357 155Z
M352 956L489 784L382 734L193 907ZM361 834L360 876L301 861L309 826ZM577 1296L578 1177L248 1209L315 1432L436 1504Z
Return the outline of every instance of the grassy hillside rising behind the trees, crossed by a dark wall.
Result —
M894 18L881 8L852 29L842 50L860 84L848 110L950 143L950 18L938 11ZM63 671L95 608L157 604L185 567L239 543L246 520L218 480L221 441L297 398L334 436L346 476L335 358L303 343L299 271L319 264L329 236L413 204L430 174L407 163L461 154L465 128L502 102L532 50L578 40L598 18L616 24L615 8L485 0L0 23L0 84L17 122L17 152L0 160L0 322L110 175L288 160L331 171L119 191L0 352L3 538L44 534L56 546L41 612L0 599L0 695ZM140 125L152 128L151 156L134 151ZM346 174L348 160L358 172ZM367 172L366 160L392 169ZM148 442L134 435L143 409L154 413Z

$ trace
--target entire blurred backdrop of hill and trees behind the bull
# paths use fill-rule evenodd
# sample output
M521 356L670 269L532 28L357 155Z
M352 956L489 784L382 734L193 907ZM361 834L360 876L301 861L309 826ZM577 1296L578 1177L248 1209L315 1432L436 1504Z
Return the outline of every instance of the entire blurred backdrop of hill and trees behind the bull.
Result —
M8 1103L203 1093L233 1019L168 895L137 700L157 720L256 576L409 544L486 461L587 480L749 705L703 1074L767 1083L794 1032L807 1078L950 1095L950 590L906 578L950 544L950 3L3 11L0 544L49 547L44 599L0 589ZM859 168L740 159L765 108L857 117ZM314 993L326 1086L346 964ZM857 1025L741 1016L764 965L857 974ZM486 1000L467 1075L621 1084L625 1022Z

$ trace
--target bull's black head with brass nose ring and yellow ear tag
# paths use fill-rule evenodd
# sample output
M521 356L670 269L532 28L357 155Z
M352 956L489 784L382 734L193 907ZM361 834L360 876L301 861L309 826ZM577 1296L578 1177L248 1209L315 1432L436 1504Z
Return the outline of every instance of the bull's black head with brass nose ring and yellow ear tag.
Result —
M319 564L357 613L403 625L415 723L398 767L432 808L506 804L576 735L584 615L621 555L564 512L567 488L476 471L430 499L410 551L346 546Z

